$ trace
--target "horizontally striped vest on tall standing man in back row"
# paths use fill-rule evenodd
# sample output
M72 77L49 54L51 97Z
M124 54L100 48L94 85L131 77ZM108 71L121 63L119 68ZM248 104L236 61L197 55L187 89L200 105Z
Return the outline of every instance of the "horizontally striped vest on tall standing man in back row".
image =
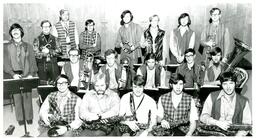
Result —
M67 45L68 43L66 42L66 30L62 26L61 22L58 22L55 25L57 32L58 32L58 38L60 40L60 45L61 45L61 51L63 54L67 53ZM70 45L71 47L76 47L75 43L75 23L73 21L69 21L69 28L68 28L68 35L70 37Z

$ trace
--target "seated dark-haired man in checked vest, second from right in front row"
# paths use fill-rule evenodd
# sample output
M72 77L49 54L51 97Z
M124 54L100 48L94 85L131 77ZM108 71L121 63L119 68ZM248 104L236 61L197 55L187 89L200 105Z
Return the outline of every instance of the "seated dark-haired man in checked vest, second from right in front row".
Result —
M191 136L196 129L198 112L192 96L183 92L185 79L180 74L173 75L169 84L172 91L160 96L158 100L158 116L163 128L169 129L171 121L189 121L186 126L177 126L173 130L174 136Z

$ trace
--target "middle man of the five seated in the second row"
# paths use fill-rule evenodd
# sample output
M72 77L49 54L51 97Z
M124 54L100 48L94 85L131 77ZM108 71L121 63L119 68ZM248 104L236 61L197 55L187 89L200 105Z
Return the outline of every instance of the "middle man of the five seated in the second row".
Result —
M149 53L145 58L145 64L137 70L137 75L141 75L146 81L145 88L157 88L161 85L162 67L156 63L156 55Z

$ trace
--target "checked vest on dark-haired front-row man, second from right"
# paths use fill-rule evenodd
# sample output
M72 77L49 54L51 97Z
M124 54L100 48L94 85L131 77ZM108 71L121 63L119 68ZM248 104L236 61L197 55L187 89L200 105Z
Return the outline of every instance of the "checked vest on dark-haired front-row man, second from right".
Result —
M164 108L164 119L182 120L189 118L191 99L192 96L182 93L181 101L177 109L175 109L172 103L171 93L162 95L161 102Z

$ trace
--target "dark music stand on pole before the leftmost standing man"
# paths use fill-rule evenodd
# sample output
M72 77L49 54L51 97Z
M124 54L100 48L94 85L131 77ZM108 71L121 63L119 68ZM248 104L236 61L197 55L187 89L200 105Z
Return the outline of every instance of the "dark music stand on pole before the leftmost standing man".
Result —
M23 78L23 79L4 79L4 91L12 92L13 94L21 94L21 104L22 104L22 113L23 113L23 122L24 122L24 131L25 135L22 137L31 137L29 132L27 132L26 118L25 118L25 108L23 100L23 92L31 92L32 88L36 88L39 84L39 78Z

